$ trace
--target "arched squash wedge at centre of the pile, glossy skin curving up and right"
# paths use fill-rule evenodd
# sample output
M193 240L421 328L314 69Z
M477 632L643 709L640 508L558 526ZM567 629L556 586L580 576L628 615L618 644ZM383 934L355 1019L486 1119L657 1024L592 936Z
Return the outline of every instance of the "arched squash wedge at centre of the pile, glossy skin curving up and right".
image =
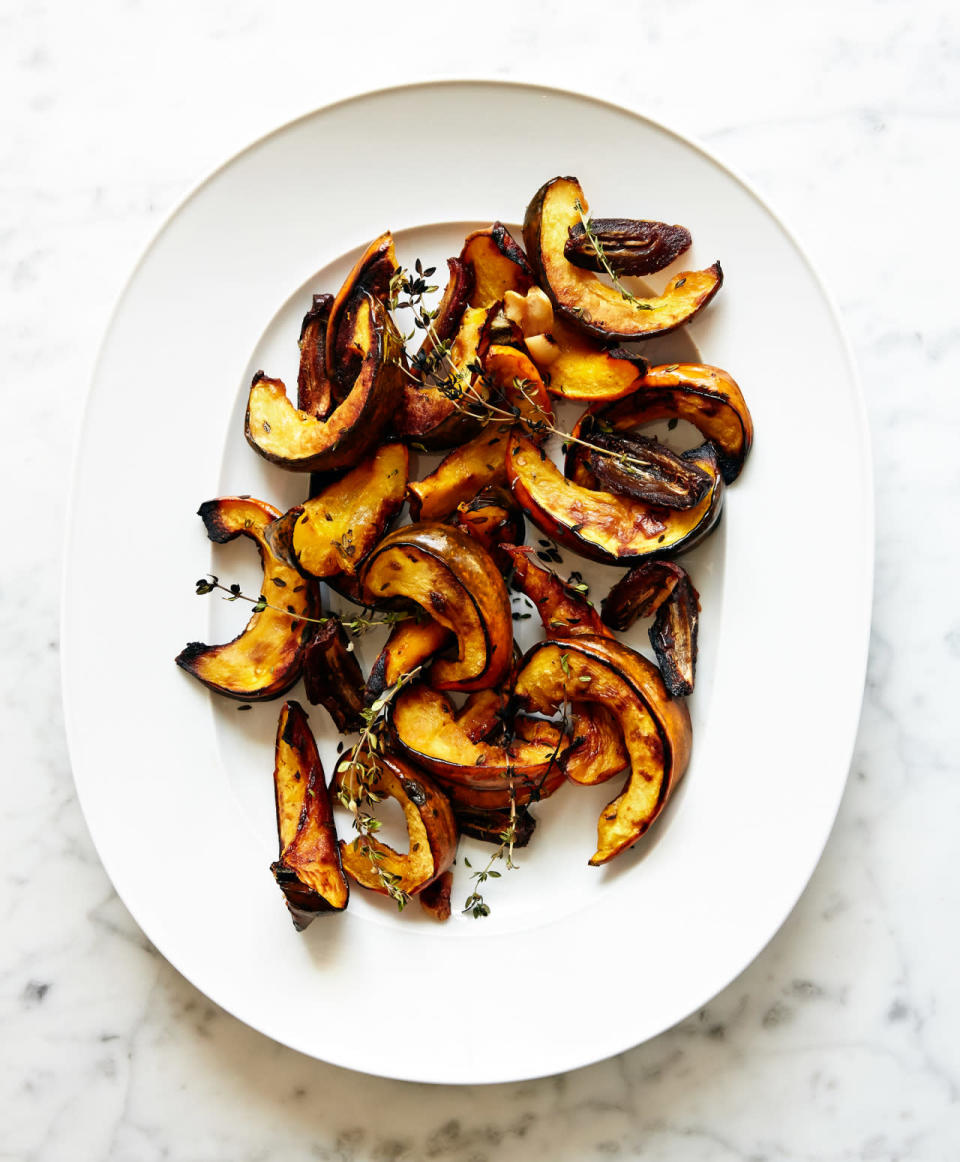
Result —
M511 662L510 601L496 565L475 540L450 525L421 522L394 530L364 562L371 602L408 597L457 636L457 659L435 661L439 690L499 686Z

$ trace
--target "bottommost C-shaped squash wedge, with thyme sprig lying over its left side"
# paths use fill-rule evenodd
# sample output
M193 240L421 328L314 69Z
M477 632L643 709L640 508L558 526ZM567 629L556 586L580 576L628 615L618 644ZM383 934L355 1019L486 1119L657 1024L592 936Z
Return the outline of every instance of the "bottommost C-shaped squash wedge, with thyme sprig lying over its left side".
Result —
M343 755L334 772L337 791L356 795L356 773L350 766L352 752ZM396 799L403 810L409 834L409 851L394 851L375 835L366 842L381 856L377 866L399 876L397 888L415 896L442 876L457 854L457 824L443 791L431 779L393 754L371 754L364 763L372 766L375 775L371 787L379 795ZM354 849L352 842L341 840L341 858L346 874L361 888L387 895L370 856Z

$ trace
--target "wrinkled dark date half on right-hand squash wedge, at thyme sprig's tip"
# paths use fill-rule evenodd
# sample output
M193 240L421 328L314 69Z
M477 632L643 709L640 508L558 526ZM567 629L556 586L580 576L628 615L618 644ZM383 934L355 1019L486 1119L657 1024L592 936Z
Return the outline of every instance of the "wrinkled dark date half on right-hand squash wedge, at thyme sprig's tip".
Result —
M587 466L604 488L647 504L692 509L712 486L709 473L646 436L592 432Z

